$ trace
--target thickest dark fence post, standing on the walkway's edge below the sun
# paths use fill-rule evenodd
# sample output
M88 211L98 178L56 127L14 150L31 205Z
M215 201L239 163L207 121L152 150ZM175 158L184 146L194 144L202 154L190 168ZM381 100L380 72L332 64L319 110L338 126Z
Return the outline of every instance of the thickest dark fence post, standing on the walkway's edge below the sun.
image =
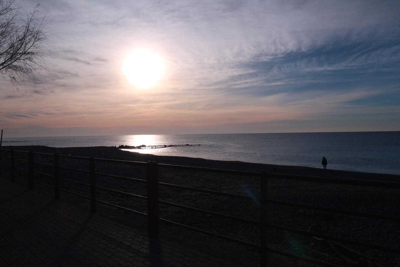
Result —
M158 166L147 162L147 226L152 236L158 236Z

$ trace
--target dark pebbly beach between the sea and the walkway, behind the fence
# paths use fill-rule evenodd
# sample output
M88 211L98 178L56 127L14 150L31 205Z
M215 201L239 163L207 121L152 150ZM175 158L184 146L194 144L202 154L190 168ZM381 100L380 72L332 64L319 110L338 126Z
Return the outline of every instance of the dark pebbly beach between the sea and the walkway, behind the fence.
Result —
M207 168L219 168L228 170L243 170L274 174L290 174L314 177L329 177L355 180L377 180L384 182L399 182L399 176L390 174L371 174L363 172L349 172L340 170L323 170L321 168L308 168L298 166L282 166L272 164L256 164L238 161L205 160L201 158L154 156L151 154L140 154L127 152L116 147L81 147L81 148L50 148L46 146L10 146L3 147L13 150L34 151L43 153L59 153L61 155L108 158L117 160L129 160L136 162L156 161L160 164L174 164L183 166L197 166ZM4 152L2 152L4 156ZM16 158L22 158L23 154L16 153ZM244 159L245 160L245 159ZM35 161L52 164L52 157L36 155ZM21 164L24 164L21 162ZM88 161L62 158L60 166L88 170ZM51 173L47 166L37 166L39 172ZM144 166L111 164L96 162L96 172L114 174L119 176L146 179ZM88 182L88 175L63 170L62 178ZM195 172L191 170L175 170L160 168L160 182L204 188L233 194L248 196L260 196L260 181L256 177L243 177L228 174L212 174L209 172ZM44 183L50 183L49 178L37 177ZM146 195L146 186L142 183L126 180L116 180L108 177L96 176L98 186L109 187L115 190L130 192L132 194ZM79 192L87 195L88 188L62 181L61 188ZM288 202L298 202L309 205L320 205L346 210L356 210L369 213L396 216L400 214L400 190L372 188L366 186L346 186L338 184L325 184L319 182L300 182L282 179L269 179L268 198ZM62 194L64 197L65 194ZM111 192L98 190L98 199L112 202L114 204L128 206L140 212L146 212L146 202L136 198L128 198ZM67 198L67 196L65 196ZM177 188L164 188L160 186L160 200L174 202L177 204L193 206L196 208L220 212L232 216L260 220L260 206L255 200L232 199L223 196L213 196L203 192L180 190ZM89 203L84 203L89 206ZM81 203L81 204L82 204ZM117 220L125 220L126 223L137 224L135 214L117 211L112 208L99 206L99 212L105 216L113 216ZM220 235L240 239L246 242L259 244L260 230L254 225L228 220L210 214L198 214L190 210L183 210L172 206L160 205L160 217L168 220L186 224L192 227L205 229ZM135 222L135 223L134 223ZM141 221L146 227L145 221ZM398 237L400 225L396 222L362 218L352 215L334 214L305 208L287 207L278 204L268 205L268 223L282 225L294 229L324 233L337 237L354 239L366 243L374 243L386 247L398 248ZM139 223L140 224L140 223ZM234 258L243 262L243 266L259 266L259 251L250 247L237 245L226 241L218 241L216 238L206 237L203 234L183 230L162 224L161 234L170 235L188 245L202 247L208 251ZM343 265L338 253L332 250L323 240L312 237L292 234L286 231L271 229L268 232L268 246L274 249L290 253L313 257L323 261ZM399 262L399 257L389 254L364 249L362 247L350 246L352 249L366 255L371 261L383 266L394 266L391 263ZM272 254L271 254L272 255ZM287 259L282 256L272 255L269 260L272 266L284 266ZM297 265L297 261L296 265ZM280 265L284 264L284 265ZM313 266L305 262L298 262L298 266ZM378 266L378 265L377 265Z

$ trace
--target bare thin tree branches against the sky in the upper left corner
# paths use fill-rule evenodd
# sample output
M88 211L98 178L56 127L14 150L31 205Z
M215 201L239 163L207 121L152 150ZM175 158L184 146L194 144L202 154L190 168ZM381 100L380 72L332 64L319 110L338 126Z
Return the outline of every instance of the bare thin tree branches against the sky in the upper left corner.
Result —
M36 17L38 7L27 13L20 2L0 0L0 75L13 84L44 69L50 34Z

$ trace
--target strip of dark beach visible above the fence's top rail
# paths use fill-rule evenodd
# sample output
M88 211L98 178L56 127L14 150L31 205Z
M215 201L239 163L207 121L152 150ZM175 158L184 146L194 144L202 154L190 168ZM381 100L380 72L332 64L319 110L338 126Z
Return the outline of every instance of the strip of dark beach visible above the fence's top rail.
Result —
M220 168L229 170L249 170L260 172L265 170L278 174L303 175L303 176L320 176L330 178L343 179L366 179L366 180L388 180L400 181L400 175L382 174L370 172L358 172L348 170L331 170L329 164L327 170L321 168L313 168L306 166L289 166L278 164L252 163L244 161L229 161L229 160L209 160L204 158L192 158L186 156L159 156L154 154L140 153L121 150L112 146L93 146L93 147L69 147L69 148L54 148L48 146L2 146L4 149L34 151L50 154L69 154L72 156L86 156L96 158L110 158L118 160L132 160L147 162L149 160L156 161L162 164L196 166L206 168Z

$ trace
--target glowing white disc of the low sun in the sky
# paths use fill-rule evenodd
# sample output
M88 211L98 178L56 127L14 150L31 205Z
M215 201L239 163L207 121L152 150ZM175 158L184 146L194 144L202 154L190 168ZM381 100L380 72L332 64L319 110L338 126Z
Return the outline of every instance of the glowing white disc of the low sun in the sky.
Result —
M124 73L136 88L154 87L164 75L162 57L146 49L135 50L124 61Z

